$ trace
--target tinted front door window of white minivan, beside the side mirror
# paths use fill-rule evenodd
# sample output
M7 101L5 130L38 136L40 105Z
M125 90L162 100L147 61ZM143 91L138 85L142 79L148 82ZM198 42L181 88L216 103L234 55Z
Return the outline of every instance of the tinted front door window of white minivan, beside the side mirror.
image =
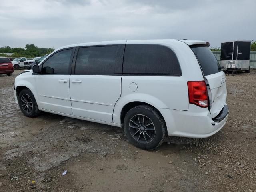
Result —
M57 52L43 63L43 74L69 74L72 49Z

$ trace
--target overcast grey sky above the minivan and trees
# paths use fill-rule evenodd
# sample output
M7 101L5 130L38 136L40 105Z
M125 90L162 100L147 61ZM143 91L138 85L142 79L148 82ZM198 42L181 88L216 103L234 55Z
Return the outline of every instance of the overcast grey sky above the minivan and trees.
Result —
M0 0L0 47L256 39L256 0Z

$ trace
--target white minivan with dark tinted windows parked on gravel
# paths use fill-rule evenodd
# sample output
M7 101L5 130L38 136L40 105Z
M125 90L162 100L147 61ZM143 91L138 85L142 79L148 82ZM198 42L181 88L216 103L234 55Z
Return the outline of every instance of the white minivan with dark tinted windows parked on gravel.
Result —
M226 123L226 77L198 40L124 40L55 50L15 79L25 116L40 111L123 127L154 149L164 137L206 138Z

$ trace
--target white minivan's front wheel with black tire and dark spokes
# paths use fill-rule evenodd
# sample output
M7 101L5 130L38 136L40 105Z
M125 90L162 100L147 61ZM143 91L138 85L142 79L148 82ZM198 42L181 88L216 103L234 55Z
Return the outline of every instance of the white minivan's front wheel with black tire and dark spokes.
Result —
M18 96L20 110L27 117L37 117L40 113L36 99L29 89L21 90ZM32 106L32 107L31 107Z

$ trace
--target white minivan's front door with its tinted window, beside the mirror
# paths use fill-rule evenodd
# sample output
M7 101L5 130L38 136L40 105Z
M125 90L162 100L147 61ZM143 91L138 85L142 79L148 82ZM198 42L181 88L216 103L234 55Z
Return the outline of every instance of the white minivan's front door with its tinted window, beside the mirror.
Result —
M38 107L72 115L69 80L74 49L56 52L42 63L36 77Z

